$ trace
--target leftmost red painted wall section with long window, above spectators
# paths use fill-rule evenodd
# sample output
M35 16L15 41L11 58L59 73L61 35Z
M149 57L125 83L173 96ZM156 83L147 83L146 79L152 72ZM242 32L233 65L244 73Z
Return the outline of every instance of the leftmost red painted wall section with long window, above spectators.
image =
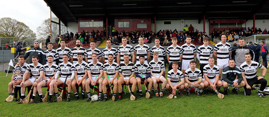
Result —
M84 30L85 32L86 32L86 30L88 30L89 33L91 33L92 30L94 30L94 32L96 32L96 30L99 30L99 32L101 32L101 30L104 30L103 27L80 27L80 21L81 22L91 21L91 20L103 21L103 20L100 20L100 19L103 19L103 18L79 18L78 19L78 33L82 32L82 30ZM103 24L103 26L105 26L105 25L106 24Z

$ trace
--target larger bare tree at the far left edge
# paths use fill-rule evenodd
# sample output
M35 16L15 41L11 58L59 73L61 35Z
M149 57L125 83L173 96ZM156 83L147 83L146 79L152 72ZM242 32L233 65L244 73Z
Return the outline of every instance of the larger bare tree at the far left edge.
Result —
M33 32L27 25L12 18L0 19L0 37L22 37L33 36L36 37L36 33Z

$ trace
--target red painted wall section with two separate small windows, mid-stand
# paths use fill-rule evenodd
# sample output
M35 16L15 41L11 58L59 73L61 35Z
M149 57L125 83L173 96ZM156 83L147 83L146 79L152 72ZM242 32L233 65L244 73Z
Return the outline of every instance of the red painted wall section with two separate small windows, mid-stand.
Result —
M117 19L117 21L116 21ZM130 19L132 19L132 21L130 21ZM141 20L143 20L144 22L141 23ZM122 22L122 21L129 21L129 27L123 27L123 28L119 28L118 27L118 22ZM115 18L114 20L114 24L115 24L115 30L117 30L118 32L124 30L125 32L130 32L130 31L134 31L134 30L149 30L151 31L151 18ZM137 28L137 24L147 24L147 28Z

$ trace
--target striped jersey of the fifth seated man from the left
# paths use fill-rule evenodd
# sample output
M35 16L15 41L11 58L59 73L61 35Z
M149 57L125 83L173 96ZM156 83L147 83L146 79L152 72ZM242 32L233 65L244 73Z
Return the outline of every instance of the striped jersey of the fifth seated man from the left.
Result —
M87 65L88 64L85 61L82 61L81 64L79 64L78 62L74 63L74 67L76 68L75 72L77 72L78 78L83 78L83 76L85 75L85 70L88 70Z

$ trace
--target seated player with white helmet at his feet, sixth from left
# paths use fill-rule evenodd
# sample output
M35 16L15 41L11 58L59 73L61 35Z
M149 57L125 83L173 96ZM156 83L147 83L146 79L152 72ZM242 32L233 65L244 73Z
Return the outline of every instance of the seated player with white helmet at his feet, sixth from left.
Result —
M86 80L86 91L88 95L88 99L86 102L91 100L91 93L90 93L90 84L91 86L94 86L95 84L99 84L99 95L98 95L98 101L102 101L101 95L102 95L102 83L103 83L103 64L97 61L97 53L92 53L92 62L90 62L87 65L87 72L89 78ZM97 78L96 78L97 77ZM96 79L95 79L96 78Z

